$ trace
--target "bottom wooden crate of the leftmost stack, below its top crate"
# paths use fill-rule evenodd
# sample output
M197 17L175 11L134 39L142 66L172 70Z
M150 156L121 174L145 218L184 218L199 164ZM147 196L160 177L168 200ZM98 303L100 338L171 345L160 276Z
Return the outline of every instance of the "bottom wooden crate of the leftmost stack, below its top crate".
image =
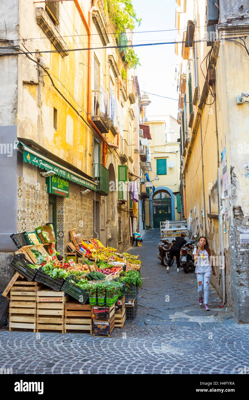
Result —
M18 294L14 296L13 293ZM11 291L10 296L10 324L9 330L12 331L15 328L19 329L32 329L36 332L36 301L31 300L34 298L34 293L28 292L30 296L20 295L18 291ZM24 300L16 300L17 298L22 298ZM30 299L30 301L28 301Z

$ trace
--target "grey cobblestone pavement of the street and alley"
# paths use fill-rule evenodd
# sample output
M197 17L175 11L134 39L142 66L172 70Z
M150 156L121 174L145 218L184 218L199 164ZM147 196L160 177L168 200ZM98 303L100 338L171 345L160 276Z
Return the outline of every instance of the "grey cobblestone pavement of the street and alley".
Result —
M138 313L110 338L90 334L0 329L0 367L13 374L238 374L249 366L249 325L219 308L210 285L211 313L200 310L194 272L176 272L156 258L159 230L144 235L140 254L143 284ZM167 298L166 296L169 296ZM169 300L169 301L166 301Z

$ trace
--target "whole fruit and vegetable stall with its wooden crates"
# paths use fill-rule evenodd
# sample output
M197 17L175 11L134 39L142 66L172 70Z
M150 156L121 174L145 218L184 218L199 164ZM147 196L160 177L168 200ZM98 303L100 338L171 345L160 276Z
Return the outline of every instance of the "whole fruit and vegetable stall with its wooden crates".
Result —
M11 235L17 250L10 266L16 273L0 298L0 322L9 318L10 331L75 330L110 337L136 317L139 256L119 254L96 238L82 240L75 229L69 234L66 254L55 250L52 224Z

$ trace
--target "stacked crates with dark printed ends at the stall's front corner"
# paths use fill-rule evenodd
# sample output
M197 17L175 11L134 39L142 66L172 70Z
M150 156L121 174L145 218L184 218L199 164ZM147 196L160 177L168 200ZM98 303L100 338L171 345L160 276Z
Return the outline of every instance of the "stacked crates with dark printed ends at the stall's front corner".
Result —
M93 306L93 336L110 337L114 329L115 304L113 306Z

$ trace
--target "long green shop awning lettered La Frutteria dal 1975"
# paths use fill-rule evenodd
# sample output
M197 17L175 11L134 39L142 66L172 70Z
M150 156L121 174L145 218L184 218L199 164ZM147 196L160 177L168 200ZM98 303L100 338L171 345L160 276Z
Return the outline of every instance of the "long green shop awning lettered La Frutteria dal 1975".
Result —
M42 170L53 171L56 175L61 176L64 179L70 180L71 182L77 183L86 188L97 190L97 184L91 180L84 178L83 176L69 170L68 168L57 164L57 162L49 160L43 154L39 154L32 148L26 146L22 142L16 140L16 148L22 148L24 162L29 162Z

